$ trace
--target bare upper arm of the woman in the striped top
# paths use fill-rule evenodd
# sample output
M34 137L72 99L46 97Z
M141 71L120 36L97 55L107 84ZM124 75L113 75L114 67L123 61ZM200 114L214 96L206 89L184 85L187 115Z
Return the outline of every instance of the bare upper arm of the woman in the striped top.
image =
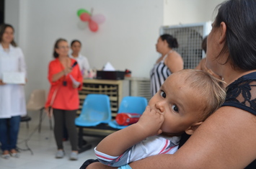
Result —
M170 52L166 60L164 60L164 64L167 65L172 73L184 68L183 59L177 52Z

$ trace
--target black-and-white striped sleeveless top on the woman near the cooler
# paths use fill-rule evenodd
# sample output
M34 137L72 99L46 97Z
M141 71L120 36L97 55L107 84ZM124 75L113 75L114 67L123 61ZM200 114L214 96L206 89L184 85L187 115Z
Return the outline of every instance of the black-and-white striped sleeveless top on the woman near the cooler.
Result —
M172 52L172 50L170 51ZM167 58L167 55L164 55L164 58L154 65L154 67L150 71L150 79L151 79L151 95L159 91L160 87L164 83L165 79L168 78L172 74L167 65L164 64L164 60Z

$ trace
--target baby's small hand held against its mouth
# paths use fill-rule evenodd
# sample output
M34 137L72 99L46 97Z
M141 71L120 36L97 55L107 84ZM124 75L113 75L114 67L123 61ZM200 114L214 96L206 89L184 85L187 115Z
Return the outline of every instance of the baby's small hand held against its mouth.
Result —
M141 115L141 118L136 124L140 125L143 128L144 134L149 136L158 135L162 133L161 126L164 122L164 115L156 112L154 109L150 109L149 106L146 106L146 110Z

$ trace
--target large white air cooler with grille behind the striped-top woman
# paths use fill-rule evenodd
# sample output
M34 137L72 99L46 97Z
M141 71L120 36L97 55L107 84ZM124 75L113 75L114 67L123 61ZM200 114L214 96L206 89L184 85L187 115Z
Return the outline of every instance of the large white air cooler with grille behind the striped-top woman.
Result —
M184 60L184 68L195 68L206 55L201 48L203 38L211 32L211 22L163 26L160 35L169 34L177 39L175 50Z

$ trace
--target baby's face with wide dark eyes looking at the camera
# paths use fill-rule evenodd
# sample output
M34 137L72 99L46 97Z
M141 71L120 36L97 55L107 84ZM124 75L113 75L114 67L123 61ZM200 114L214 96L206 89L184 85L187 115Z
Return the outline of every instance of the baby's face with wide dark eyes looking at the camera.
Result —
M170 135L180 135L193 123L200 122L201 98L185 83L185 78L182 73L173 73L149 101L151 109L164 114L161 129Z

